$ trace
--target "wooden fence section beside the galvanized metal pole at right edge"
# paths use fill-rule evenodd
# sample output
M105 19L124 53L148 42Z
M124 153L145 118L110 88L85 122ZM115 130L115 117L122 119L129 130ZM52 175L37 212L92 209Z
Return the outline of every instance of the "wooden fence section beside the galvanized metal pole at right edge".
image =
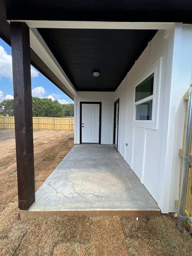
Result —
M185 124L184 124L184 131L183 131L183 145L182 145L182 149L180 149L180 151L179 151L179 156L181 157L180 181L181 181L181 175L182 175L184 145L185 145L185 140L186 140L186 122L187 122L187 113L188 113L188 99L189 99L189 90L185 95L186 111L185 111ZM191 140L191 145L190 145L191 154L190 154L190 157L192 157L192 138L190 138L190 140ZM178 208L179 201L175 202L175 206ZM187 192L186 192L185 214L189 218L192 219L192 162L189 163L189 176L188 176L188 184L187 184ZM192 226L190 226L189 228L190 228L190 231L192 233Z

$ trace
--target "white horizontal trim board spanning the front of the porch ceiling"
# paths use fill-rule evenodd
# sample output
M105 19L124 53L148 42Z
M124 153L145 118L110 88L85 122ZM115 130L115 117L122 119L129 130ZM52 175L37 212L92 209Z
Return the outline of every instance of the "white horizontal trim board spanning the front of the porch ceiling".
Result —
M168 29L173 22L108 22L70 20L8 20L26 22L29 28L52 29Z

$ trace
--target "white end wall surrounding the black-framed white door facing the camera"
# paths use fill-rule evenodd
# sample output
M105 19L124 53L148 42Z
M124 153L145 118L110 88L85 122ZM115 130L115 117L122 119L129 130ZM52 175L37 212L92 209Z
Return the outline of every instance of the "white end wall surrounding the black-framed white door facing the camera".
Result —
M113 144L113 98L113 92L78 92L74 99L75 144L79 144L80 102L102 102L101 144Z

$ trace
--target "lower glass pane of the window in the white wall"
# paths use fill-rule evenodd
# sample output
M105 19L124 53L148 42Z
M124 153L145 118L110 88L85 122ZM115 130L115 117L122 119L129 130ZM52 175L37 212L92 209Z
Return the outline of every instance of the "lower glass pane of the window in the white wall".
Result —
M152 105L152 100L137 105L136 120L152 120Z

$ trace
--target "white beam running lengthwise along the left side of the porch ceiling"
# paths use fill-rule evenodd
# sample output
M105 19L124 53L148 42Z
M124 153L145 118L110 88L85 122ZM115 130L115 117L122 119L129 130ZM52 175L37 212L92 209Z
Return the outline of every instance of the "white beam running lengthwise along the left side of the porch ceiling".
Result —
M42 61L44 61L47 67L52 70L55 76L57 76L58 79L67 87L67 89L70 90L74 96L77 96L75 87L64 73L64 70L59 65L37 29L30 29L30 46Z

